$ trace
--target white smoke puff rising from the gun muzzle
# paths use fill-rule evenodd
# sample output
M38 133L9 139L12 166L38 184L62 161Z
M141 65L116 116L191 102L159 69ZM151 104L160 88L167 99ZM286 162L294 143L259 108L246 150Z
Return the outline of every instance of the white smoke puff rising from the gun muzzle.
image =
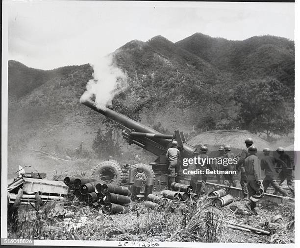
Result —
M98 106L110 105L114 96L126 89L126 75L113 65L112 59L112 55L108 55L90 64L94 68L93 79L88 81L80 102L95 96Z

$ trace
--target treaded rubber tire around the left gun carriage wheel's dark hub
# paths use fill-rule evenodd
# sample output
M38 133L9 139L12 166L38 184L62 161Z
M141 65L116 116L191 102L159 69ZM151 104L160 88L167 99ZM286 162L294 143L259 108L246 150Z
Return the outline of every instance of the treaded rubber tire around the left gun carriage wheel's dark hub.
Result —
M97 178L97 175L100 175L103 171L110 171L114 175L114 180L111 182L103 181ZM121 185L124 175L122 171L122 167L116 161L109 160L100 162L93 170L92 170L92 177L96 176L95 179L102 181L106 184L114 184L114 185Z

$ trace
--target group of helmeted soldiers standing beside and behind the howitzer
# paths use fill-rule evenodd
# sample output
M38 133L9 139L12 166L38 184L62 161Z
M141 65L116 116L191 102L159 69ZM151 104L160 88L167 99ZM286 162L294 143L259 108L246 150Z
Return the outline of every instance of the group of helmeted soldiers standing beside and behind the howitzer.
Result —
M287 185L289 190L291 191L292 195L295 195L295 186L294 186L294 176L293 170L295 166L293 165L293 160L285 153L282 147L278 147L276 149L276 153L279 155L278 158L271 156L271 149L265 148L263 150L263 158L259 159L257 157L257 148L254 145L254 142L251 138L247 138L245 140L246 148L242 150L239 156L236 156L234 153L231 152L230 145L220 146L219 147L219 155L217 158L237 158L237 163L228 164L224 166L222 164L216 165L217 170L228 170L228 171L236 171L236 174L240 172L240 184L242 188L242 192L244 198L248 198L248 202L245 203L246 207L252 212L253 214L257 214L255 210L256 203L264 196L267 188L271 184L274 189L275 193L278 192L283 196L288 196L288 193L282 188L281 183L284 180L287 180ZM176 148L177 142L174 140L172 141L171 148L168 149L166 158L169 161L169 185L172 182L175 182L175 173L178 175L182 171L180 166L180 151ZM207 157L208 149L206 146L200 146L200 151L198 152L198 156L200 158ZM277 165L277 167L275 167ZM280 167L278 167L278 165ZM208 163L202 165L195 165L196 168L194 169L201 169L201 170L212 170L212 166ZM276 180L276 175L281 169L278 180ZM265 172L265 178L261 181L261 170ZM194 175L191 177L191 185L193 188L197 189L198 180L201 179L201 186L200 186L200 194L205 194L205 186L207 180L207 174L203 175ZM224 174L218 175L217 174L218 183L222 183L225 185L236 186L236 182L234 180L234 174ZM176 180L177 181L177 180Z

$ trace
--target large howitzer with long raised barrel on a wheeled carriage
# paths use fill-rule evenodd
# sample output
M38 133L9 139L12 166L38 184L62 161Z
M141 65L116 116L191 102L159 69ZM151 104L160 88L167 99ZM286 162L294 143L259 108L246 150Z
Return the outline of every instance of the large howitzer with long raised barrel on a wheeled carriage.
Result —
M177 148L180 151L181 159L192 158L197 155L197 153L196 153L197 149L186 143L184 134L182 132L179 132L176 130L174 132L174 135L161 134L158 131L156 131L142 123L134 121L121 113L117 113L117 112L115 112L109 108L103 107L103 106L97 106L97 104L91 99L81 99L81 103L86 105L87 107L95 110L96 112L103 114L104 116L108 117L112 121L114 121L120 128L123 129L122 136L128 144L135 144L135 145L151 152L152 154L158 156L158 158L155 159L154 162L150 163L150 166L152 167L156 176L158 174L160 174L160 175L169 174L167 160L166 160L166 152L167 152L168 148L170 148L172 140L176 140L178 143ZM136 166L138 168L136 168ZM151 172L150 173L147 172L147 170L149 170L149 168L151 169L150 166L145 165L145 164L133 165L133 169L131 168L131 171L133 171L133 172L131 174L129 173L129 176L131 176L131 179L129 177L127 177L128 172L126 172L126 179L129 181L132 181L133 178L140 177L144 180L144 183L145 183L147 178L149 176L151 177L151 175L150 175ZM96 169L95 175L101 174L101 173L99 173L100 167L101 167L101 165ZM123 168L123 171L124 171L124 168ZM143 172L144 172L144 174L146 174L145 175L146 177L143 177L143 175L141 174ZM154 173L152 173L152 174L153 174L153 177L155 177ZM106 181L105 183L110 183L110 182ZM113 183L119 184L119 183L115 183L115 182L113 182Z

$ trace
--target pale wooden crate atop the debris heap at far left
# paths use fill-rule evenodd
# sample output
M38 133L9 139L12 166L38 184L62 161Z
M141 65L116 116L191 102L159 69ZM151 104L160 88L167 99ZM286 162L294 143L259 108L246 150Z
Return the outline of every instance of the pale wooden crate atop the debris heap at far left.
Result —
M68 194L68 186L62 181L23 178L23 191L24 192L42 192L52 194Z

